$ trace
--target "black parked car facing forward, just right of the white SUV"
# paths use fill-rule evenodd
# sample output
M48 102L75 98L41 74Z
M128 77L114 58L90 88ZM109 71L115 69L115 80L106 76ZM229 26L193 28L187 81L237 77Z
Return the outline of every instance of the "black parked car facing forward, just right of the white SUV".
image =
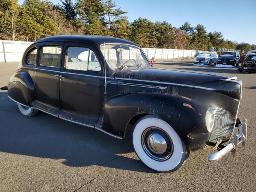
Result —
M217 64L239 66L240 55L238 51L223 52L217 60Z

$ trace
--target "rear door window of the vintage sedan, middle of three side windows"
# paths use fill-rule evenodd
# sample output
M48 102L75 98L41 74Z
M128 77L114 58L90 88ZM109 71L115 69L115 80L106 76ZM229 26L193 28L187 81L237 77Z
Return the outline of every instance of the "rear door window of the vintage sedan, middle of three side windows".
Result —
M60 67L61 46L51 45L42 46L40 49L40 66Z

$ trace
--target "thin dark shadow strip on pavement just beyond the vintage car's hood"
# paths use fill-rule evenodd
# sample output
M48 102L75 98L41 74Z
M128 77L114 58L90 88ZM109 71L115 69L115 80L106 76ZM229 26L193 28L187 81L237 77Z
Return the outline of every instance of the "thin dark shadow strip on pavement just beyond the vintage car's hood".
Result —
M240 74L240 72L236 69L229 68L212 68L212 67L196 67L193 68L175 68L176 70L189 70L195 72L210 72L210 73L232 73L232 74Z

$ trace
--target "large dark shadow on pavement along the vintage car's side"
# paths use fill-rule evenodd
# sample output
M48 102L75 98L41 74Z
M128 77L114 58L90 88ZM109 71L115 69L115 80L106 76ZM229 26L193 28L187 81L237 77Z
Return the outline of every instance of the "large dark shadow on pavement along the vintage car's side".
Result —
M43 112L23 116L0 92L0 151L60 160L66 166L104 166L156 173L136 159L131 136L119 140Z

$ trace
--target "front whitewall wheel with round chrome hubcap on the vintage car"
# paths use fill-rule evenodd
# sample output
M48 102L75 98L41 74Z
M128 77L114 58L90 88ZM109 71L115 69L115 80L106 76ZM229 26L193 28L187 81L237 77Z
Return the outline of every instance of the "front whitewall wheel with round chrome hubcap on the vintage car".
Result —
M173 172L188 158L189 150L174 129L155 116L140 118L132 132L140 160L157 172Z

